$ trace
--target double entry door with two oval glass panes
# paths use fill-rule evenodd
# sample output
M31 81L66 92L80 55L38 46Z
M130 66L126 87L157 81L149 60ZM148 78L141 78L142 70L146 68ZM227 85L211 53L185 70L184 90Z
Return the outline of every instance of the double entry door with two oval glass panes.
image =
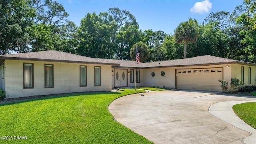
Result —
M127 70L115 69L114 87L127 87Z

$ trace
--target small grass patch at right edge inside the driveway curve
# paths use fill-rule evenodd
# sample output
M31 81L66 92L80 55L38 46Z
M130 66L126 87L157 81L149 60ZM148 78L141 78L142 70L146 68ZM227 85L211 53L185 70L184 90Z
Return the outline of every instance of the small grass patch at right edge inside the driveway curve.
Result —
M232 108L240 119L256 128L256 102L236 104Z

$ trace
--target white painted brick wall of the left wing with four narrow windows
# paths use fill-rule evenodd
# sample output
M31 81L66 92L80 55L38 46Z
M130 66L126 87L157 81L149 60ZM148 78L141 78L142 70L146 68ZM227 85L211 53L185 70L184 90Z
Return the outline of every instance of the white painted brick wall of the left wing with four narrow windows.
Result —
M23 63L34 64L34 88L23 88ZM18 98L71 92L110 91L111 66L93 64L73 64L62 62L40 62L6 60L6 94ZM44 88L44 64L54 65L54 88ZM80 65L87 66L87 86L80 87ZM94 86L94 66L101 67L101 86Z

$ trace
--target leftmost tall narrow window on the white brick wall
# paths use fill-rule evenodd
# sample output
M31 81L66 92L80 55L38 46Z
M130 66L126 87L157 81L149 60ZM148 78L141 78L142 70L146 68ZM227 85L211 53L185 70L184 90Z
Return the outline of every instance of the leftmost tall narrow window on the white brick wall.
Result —
M34 66L23 63L23 88L34 88Z

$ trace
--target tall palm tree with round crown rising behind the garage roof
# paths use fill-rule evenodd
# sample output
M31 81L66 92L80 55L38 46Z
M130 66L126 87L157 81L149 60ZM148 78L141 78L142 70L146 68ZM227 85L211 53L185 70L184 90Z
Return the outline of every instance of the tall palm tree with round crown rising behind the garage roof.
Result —
M174 36L178 44L184 41L184 58L187 58L187 44L196 42L199 37L198 23L191 18L186 22L181 22L175 29Z

